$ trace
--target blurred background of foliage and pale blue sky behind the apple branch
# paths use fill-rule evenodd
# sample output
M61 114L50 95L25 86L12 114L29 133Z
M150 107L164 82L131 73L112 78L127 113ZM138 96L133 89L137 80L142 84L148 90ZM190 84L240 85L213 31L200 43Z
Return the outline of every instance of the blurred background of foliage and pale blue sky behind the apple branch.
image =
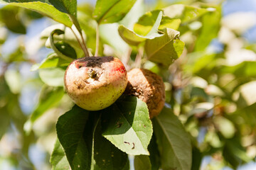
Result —
M256 1L138 3L134 23L146 11L172 4L215 11L178 29L186 49L168 74L151 62L144 67L164 77L166 103L191 135L193 167L256 169ZM92 42L94 5L95 1L78 1L78 18L91 27L85 33ZM53 24L34 11L0 6L0 169L51 169L55 123L72 102L61 85L51 84L50 77L42 79L47 72L33 72L31 67L53 52L45 47L42 34ZM102 26L100 33L104 55L122 57L129 50L119 38L117 24ZM136 52L132 50L132 55Z

